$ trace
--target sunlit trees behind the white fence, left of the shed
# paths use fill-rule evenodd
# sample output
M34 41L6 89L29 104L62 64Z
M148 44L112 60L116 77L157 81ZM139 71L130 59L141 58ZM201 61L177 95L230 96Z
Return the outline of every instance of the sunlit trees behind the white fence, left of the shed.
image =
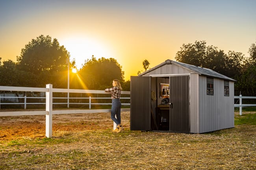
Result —
M69 58L69 52L56 38L40 35L21 49L17 62L0 58L0 85L45 87L50 83L54 88L66 89L69 64L70 89L104 90L113 79L119 79L123 89L130 90L130 81L124 81L122 66L114 58L96 60L92 56L76 74L71 71L75 60L69 62Z

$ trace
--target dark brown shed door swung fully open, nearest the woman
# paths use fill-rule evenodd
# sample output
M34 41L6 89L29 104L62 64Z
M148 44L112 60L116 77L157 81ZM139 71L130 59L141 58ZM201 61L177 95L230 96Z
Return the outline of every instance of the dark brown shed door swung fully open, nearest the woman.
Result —
M130 129L150 130L150 77L131 76Z

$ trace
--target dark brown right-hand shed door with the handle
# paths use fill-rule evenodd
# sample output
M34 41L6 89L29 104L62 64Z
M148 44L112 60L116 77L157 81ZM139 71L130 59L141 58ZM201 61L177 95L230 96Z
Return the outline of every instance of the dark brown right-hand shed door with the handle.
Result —
M189 76L170 77L170 131L189 132Z

